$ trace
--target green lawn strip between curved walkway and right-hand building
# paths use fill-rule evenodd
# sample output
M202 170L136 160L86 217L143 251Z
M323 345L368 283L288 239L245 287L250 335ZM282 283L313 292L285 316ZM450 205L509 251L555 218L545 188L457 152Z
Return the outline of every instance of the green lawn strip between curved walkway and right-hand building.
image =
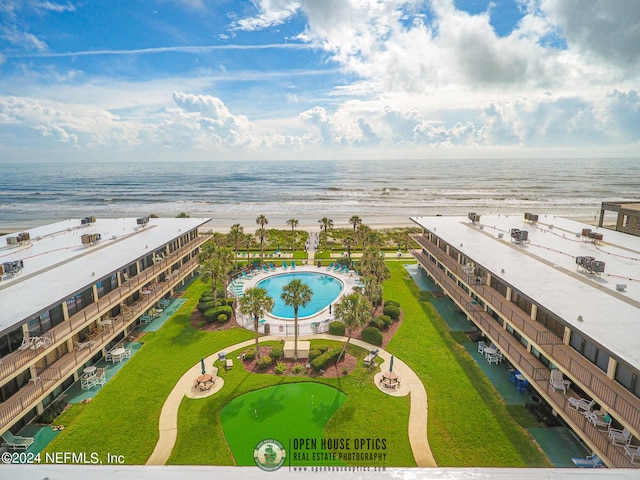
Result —
M422 379L429 399L429 443L439 466L550 467L529 434L449 330L400 262L387 264L386 299L404 321L388 350ZM422 297L422 299L421 299Z

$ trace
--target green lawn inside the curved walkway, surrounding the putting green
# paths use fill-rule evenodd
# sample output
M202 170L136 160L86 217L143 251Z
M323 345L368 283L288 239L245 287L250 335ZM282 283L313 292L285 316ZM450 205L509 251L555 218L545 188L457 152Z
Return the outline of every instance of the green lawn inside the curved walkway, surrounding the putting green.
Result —
M326 345L340 348L341 343L312 341L312 348ZM350 345L349 352L362 359L366 351ZM238 356L241 352L233 352ZM341 378L309 378L305 375L280 377L249 373L234 368L223 375L225 385L215 395L204 399L184 398L178 415L178 439L169 459L178 465L234 465L234 459L224 436L220 412L239 395L261 388L294 382L318 382L346 394L342 407L327 423L325 436L332 438L380 438L387 444L384 461L365 464L385 466L415 466L406 425L409 419L409 397L391 397L380 392L372 382L375 370L367 370L360 360L356 369ZM303 401L301 399L301 401ZM403 425L398 428L398 425ZM275 436L277 431L274 431ZM285 447L289 439L278 438ZM362 464L362 462L347 462Z

